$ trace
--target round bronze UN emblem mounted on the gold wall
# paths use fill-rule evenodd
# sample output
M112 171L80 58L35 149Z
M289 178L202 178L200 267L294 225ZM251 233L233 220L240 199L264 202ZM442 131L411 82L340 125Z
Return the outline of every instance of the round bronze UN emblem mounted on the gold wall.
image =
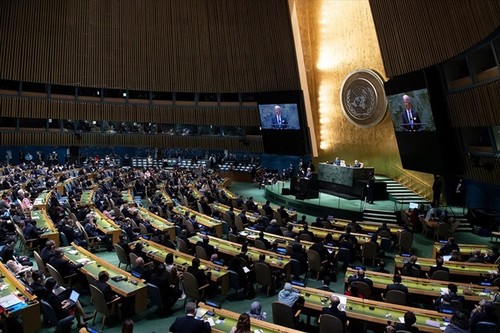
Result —
M347 75L340 89L340 100L344 115L359 127L377 125L387 109L384 82L369 69L359 69Z

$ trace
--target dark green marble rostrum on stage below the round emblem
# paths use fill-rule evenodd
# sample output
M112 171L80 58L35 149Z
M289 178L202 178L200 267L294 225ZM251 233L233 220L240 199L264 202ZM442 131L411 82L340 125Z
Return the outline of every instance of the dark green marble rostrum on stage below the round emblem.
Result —
M370 173L375 173L375 169L319 163L319 188L325 192L339 192L362 198L365 195L366 181Z

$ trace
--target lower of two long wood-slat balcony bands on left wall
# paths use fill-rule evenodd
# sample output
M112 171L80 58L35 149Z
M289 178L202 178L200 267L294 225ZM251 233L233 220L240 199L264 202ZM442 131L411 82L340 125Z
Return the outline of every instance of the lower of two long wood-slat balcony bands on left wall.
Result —
M237 137L196 137L171 135L131 135L62 132L0 132L5 146L100 146L100 147L155 147L199 148L230 151L263 152L262 137L247 138L245 144Z

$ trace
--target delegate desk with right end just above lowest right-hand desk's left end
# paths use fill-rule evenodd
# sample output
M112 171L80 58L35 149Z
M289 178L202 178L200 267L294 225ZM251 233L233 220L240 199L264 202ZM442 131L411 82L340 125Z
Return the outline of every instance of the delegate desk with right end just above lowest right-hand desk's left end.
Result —
M210 244L213 245L214 247L217 247L219 254L223 253L223 254L233 258L241 253L241 244L239 244L239 243L233 243L233 242L221 239L221 238L210 237L210 236L209 236L209 239L210 239ZM196 245L196 243L199 241L202 241L200 234L189 237L189 242L191 242L191 244ZM259 261L260 254L266 255L266 262L271 267L283 270L286 278L288 278L290 276L291 259L289 256L282 256L282 255L276 254L272 251L262 250L262 249L258 249L256 247L250 247L250 246L248 247L247 256L253 262ZM250 265L250 263L247 263L247 264Z

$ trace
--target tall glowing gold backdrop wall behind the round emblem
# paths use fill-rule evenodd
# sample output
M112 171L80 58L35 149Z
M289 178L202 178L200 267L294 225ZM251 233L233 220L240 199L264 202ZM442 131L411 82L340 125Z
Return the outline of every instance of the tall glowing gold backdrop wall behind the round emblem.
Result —
M294 7L295 6L295 7ZM369 68L385 81L385 71L368 0L291 0L297 13L302 59L307 76L313 133L318 156L315 163L336 156L346 163L360 160L377 174L396 176L401 167L389 114L372 128L352 125L341 109L339 91L352 71ZM416 174L429 180L425 174Z

